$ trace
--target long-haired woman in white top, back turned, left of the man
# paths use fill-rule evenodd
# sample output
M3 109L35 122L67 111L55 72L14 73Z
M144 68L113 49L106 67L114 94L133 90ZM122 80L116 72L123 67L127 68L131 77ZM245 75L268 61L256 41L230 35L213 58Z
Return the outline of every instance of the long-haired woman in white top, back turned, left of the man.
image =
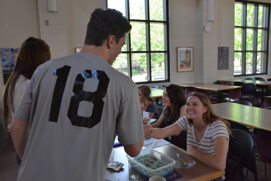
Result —
M11 125L13 115L23 96L26 86L36 68L51 59L50 47L38 38L27 38L19 49L15 68L11 73L2 98L4 102L4 133L8 136L8 128ZM16 153L17 163L20 166L20 158Z

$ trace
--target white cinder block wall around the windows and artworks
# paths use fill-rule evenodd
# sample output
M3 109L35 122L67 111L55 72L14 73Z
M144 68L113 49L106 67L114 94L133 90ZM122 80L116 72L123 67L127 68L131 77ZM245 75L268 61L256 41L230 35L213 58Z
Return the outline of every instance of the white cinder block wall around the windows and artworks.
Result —
M271 3L271 0L254 1ZM207 0L169 0L171 82L156 84L159 88L234 78L234 3L214 0L214 22L208 22ZM52 58L73 54L76 47L83 47L92 11L105 7L105 0L57 0L58 13L48 13L47 0L0 0L0 48L19 48L26 38L33 36L49 44ZM49 20L50 26L44 26L44 20ZM204 32L204 25L210 25L210 33ZM228 70L218 70L218 46L229 46ZM176 47L194 47L194 71L177 72ZM271 70L270 51L268 61ZM1 69L0 93L4 88ZM1 101L0 113L2 110Z

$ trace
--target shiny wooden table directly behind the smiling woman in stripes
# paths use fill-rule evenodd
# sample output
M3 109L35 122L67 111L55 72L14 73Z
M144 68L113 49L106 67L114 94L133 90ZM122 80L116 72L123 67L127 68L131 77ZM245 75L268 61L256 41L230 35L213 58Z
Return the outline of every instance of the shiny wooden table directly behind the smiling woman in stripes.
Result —
M271 110L229 102L212 104L212 108L215 114L224 119L229 119L250 128L271 131Z

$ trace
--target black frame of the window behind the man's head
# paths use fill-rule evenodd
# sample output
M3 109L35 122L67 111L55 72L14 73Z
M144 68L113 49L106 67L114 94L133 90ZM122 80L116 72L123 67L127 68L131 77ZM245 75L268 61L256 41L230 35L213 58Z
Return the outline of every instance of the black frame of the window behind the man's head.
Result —
M132 78L132 53L145 53L147 54L147 81L142 82L135 82L136 84L154 84L154 83L164 83L170 82L170 39L169 39L169 7L168 7L168 0L163 0L164 6L164 19L166 21L152 21L150 19L150 7L149 7L149 0L145 0L145 14L146 20L135 20L130 19L130 9L129 9L129 0L125 0L126 6L126 18L130 23L146 23L146 51L131 51L131 33L126 35L126 44L127 44L127 51L122 51L121 53L127 54L127 67L128 67L128 76ZM108 3L106 0L106 8L108 8ZM151 36L150 36L150 24L151 23L159 23L164 24L164 51L151 51ZM165 67L165 80L155 81L151 80L151 53L164 53L164 67Z

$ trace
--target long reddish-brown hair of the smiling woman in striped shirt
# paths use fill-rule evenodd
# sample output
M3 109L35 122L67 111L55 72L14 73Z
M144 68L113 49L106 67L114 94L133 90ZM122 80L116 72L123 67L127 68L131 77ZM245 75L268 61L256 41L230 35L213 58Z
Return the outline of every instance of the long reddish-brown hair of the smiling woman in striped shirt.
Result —
M221 120L225 123L225 125L227 126L227 129L228 129L228 132L229 132L229 135L232 136L232 131L230 129L230 123L228 121L226 121L225 119L221 119L220 116L216 115L215 113L213 113L213 108L211 106L211 103L210 103L210 100L208 99L208 97L202 93L199 93L199 92L191 92L188 97L191 97L191 96L195 96L195 97L198 97L199 100L201 101L201 103L203 104L204 107L208 107L208 110L206 111L206 113L204 113L203 115L203 120L205 123L207 124L210 124L210 123L213 123L214 121L216 120ZM188 118L187 118L188 119ZM188 119L188 122L190 124L193 124L193 120L192 119Z

